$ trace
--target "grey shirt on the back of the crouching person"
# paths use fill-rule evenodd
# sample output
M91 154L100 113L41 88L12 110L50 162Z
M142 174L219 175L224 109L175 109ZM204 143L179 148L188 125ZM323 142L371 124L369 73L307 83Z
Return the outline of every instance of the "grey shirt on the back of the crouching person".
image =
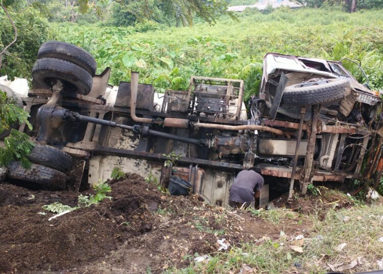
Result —
M229 199L234 202L252 202L254 190L260 191L264 186L264 178L254 170L242 170L234 179L229 190Z

